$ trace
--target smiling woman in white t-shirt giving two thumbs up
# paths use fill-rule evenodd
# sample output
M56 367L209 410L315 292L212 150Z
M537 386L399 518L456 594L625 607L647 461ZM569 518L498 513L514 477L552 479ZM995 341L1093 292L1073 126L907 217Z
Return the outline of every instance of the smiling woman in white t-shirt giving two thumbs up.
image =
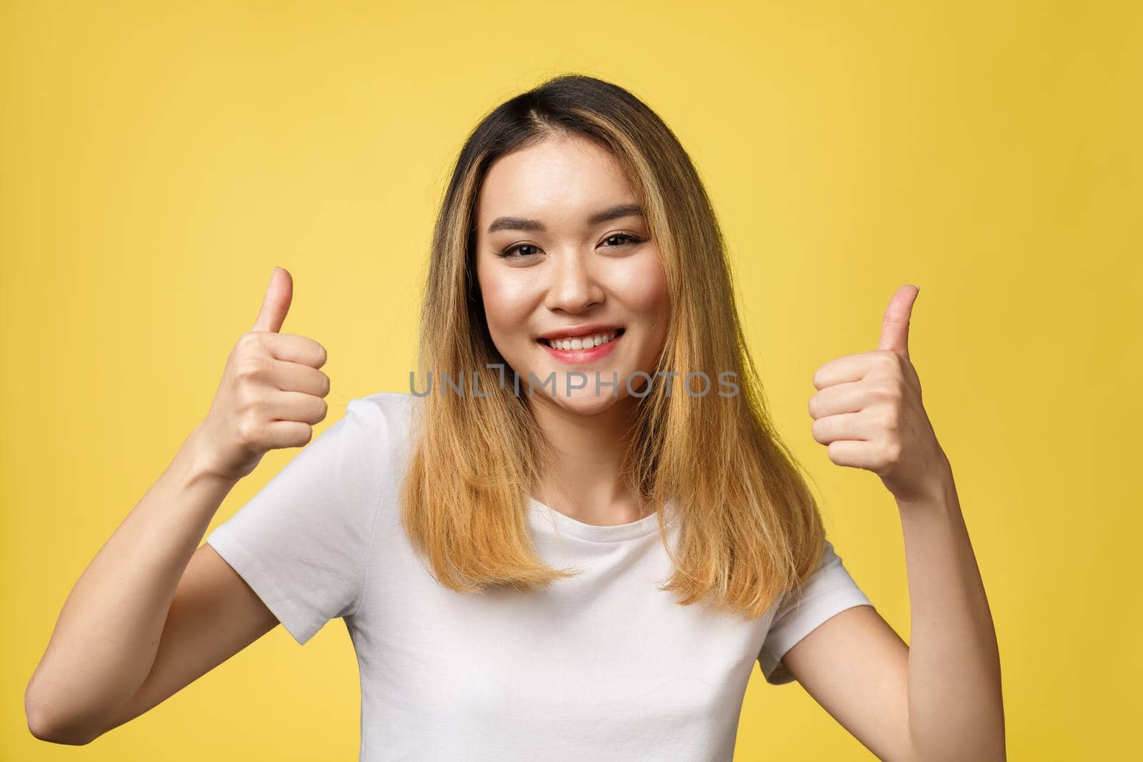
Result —
M626 90L560 77L481 121L410 392L352 400L198 546L326 415L325 350L279 332L291 292L275 270L205 422L70 595L38 737L88 743L279 621L305 643L341 617L362 760L729 760L756 660L882 759L1004 759L988 602L908 359L917 290L810 400L831 459L897 500L910 650L770 427L693 165Z

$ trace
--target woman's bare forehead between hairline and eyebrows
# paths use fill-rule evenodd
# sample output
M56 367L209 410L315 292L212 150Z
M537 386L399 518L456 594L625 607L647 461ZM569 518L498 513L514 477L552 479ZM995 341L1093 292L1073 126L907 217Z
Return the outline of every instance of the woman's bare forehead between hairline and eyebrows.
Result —
M634 201L622 166L606 147L582 137L549 137L501 157L480 187L480 230L498 215L547 218L553 223Z

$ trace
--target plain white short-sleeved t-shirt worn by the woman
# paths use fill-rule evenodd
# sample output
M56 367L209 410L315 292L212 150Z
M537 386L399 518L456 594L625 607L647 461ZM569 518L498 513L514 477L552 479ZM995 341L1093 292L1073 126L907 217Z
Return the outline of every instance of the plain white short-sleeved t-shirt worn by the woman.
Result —
M794 643L871 605L826 542L798 594L753 621L682 607L656 587L673 569L654 514L599 527L535 499L541 556L583 572L533 594L448 591L399 519L416 401L351 400L207 537L298 643L344 618L362 762L730 760L754 661L791 682L781 658Z

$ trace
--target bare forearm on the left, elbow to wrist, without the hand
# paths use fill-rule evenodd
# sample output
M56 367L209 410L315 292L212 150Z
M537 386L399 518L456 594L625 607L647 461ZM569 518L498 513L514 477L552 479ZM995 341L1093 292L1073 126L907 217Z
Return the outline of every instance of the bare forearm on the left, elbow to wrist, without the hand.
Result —
M25 692L30 725L85 743L150 674L178 580L234 481L183 443L75 583Z

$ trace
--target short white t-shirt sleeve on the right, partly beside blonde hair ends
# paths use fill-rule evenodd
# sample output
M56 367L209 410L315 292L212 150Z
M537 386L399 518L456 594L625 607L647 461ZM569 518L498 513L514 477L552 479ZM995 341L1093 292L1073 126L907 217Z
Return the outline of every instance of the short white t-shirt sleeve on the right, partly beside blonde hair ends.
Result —
M766 681L775 685L793 682L793 675L782 664L786 651L826 619L855 605L873 604L841 564L833 544L825 540L817 570L801 587L782 597L766 633L758 655Z

